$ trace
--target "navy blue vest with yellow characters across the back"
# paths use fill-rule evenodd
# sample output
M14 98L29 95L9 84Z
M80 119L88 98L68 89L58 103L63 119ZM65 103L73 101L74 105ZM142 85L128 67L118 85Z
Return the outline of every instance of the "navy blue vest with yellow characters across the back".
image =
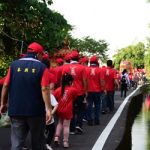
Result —
M46 66L34 58L22 58L10 66L9 116L45 116L41 79Z

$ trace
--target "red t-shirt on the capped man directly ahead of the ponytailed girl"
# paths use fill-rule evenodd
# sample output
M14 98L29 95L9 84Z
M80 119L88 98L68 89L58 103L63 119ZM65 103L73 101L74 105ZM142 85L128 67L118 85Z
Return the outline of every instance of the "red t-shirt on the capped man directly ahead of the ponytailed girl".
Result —
M73 87L78 90L78 96L83 95L85 93L83 82L85 79L85 67L79 63L69 64L63 67L62 74L64 73L70 73L73 76Z

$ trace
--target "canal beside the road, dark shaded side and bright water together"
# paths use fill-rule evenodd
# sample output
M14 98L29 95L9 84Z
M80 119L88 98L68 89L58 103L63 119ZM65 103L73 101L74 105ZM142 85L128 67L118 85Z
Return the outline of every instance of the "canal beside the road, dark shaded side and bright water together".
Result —
M150 95L142 91L131 98L124 135L116 150L150 150Z

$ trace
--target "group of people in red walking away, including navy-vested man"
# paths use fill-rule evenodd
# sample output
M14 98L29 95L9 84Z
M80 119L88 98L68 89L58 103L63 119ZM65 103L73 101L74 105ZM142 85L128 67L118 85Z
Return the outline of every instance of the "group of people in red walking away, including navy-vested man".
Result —
M65 60L65 61L64 61ZM114 94L126 87L119 83L112 60L100 66L96 55L80 58L77 50L50 66L44 48L33 42L27 54L12 62L1 92L1 114L8 109L11 121L11 150L21 150L30 132L32 150L52 149L61 143L69 147L69 135L84 132L83 119L100 125L101 113L114 110ZM123 82L122 82L123 83ZM56 129L55 129L56 127Z

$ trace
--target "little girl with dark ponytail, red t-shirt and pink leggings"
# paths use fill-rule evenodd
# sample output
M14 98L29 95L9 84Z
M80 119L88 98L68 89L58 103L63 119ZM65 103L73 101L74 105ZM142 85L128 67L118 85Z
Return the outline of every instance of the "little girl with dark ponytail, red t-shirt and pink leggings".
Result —
M73 77L70 74L62 76L61 87L54 91L54 96L58 101L58 124L56 128L54 144L60 144L60 136L63 129L63 146L69 147L69 128L73 117L73 101L76 99L77 90L72 87Z

